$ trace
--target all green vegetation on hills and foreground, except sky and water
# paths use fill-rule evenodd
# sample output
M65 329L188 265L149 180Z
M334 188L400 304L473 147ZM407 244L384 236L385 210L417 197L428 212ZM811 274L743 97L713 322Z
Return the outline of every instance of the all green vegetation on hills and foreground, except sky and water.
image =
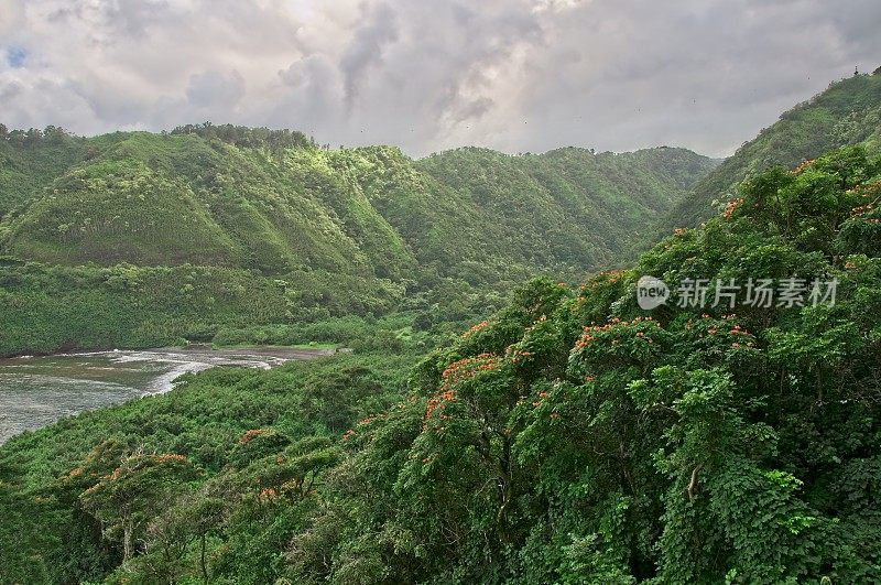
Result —
M355 349L13 437L0 582L881 581L879 88L834 84L709 175L679 149L0 124L0 355ZM837 302L646 312L642 274Z

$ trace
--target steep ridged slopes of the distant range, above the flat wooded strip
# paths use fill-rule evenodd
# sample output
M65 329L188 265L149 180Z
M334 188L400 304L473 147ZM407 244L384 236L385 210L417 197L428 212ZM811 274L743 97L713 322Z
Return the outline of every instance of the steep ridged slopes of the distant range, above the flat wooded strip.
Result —
M45 156L10 163L7 183L28 180L7 197L18 208L3 248L73 266L189 262L394 280L411 277L416 260L472 283L573 273L608 263L713 166L679 149L460 149L413 161L389 147L329 151L240 132L65 138L70 153L54 166L40 167ZM4 149L33 159L48 139L35 142Z

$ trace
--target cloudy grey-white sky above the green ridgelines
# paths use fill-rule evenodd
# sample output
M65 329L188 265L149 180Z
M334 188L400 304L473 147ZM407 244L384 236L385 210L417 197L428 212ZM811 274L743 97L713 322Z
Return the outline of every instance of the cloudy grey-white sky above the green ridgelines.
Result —
M879 30L878 0L0 0L0 121L726 155Z

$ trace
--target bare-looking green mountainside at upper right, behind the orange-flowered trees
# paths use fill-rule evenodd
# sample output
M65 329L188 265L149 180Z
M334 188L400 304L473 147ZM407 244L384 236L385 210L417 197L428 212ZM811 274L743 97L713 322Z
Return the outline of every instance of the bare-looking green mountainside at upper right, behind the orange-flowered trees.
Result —
M662 234L696 226L717 213L748 176L769 166L793 167L829 150L866 142L881 149L881 72L835 82L828 89L784 112L774 124L740 147L700 181L662 220Z

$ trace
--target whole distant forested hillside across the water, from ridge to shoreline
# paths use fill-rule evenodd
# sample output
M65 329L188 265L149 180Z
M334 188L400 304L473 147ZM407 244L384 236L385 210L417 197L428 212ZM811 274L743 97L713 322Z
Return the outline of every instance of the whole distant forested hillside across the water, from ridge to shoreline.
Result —
M3 129L0 355L286 343L393 310L460 322L530 275L612 262L714 165L682 149L414 161L213 124Z

